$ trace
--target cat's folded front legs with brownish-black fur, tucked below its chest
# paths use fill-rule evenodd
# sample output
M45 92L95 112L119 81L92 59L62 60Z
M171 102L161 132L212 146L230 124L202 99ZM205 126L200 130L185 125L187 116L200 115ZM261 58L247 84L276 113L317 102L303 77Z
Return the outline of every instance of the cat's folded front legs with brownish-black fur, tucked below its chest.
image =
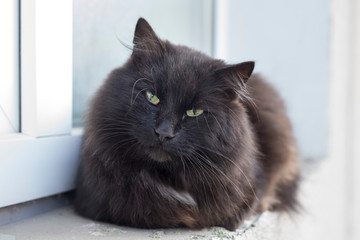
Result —
M114 201L115 205L110 206L115 212L122 211L121 219L114 216L112 220L118 224L198 229L223 221L223 226L230 229L237 226L230 219L241 221L240 216L233 215L234 212L250 208L255 213L258 204L253 201L255 195L248 196L245 204L241 203L251 190L239 187L241 183L236 178L230 179L231 172L224 172L224 176L211 180L211 175L196 171L178 169L166 173L165 170L141 169L127 177L130 180L123 179L122 183L128 186L122 187L127 189L123 194L129 197L129 201L123 205ZM114 194L112 197L116 199L118 196Z

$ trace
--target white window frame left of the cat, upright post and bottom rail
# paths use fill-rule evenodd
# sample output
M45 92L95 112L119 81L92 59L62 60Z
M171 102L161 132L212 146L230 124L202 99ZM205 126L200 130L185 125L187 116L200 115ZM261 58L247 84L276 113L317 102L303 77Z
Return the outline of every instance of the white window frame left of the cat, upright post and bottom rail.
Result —
M21 133L0 136L0 207L74 189L72 1L21 1Z

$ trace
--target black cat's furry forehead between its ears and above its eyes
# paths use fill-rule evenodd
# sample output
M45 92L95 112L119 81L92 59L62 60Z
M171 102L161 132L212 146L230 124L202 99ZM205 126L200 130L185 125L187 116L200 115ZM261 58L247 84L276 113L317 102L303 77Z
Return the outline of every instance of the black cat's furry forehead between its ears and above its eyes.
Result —
M148 84L145 88L172 105L205 100L217 85L214 71L223 65L203 53L172 44L164 54L148 60L144 74L150 81L143 82Z

